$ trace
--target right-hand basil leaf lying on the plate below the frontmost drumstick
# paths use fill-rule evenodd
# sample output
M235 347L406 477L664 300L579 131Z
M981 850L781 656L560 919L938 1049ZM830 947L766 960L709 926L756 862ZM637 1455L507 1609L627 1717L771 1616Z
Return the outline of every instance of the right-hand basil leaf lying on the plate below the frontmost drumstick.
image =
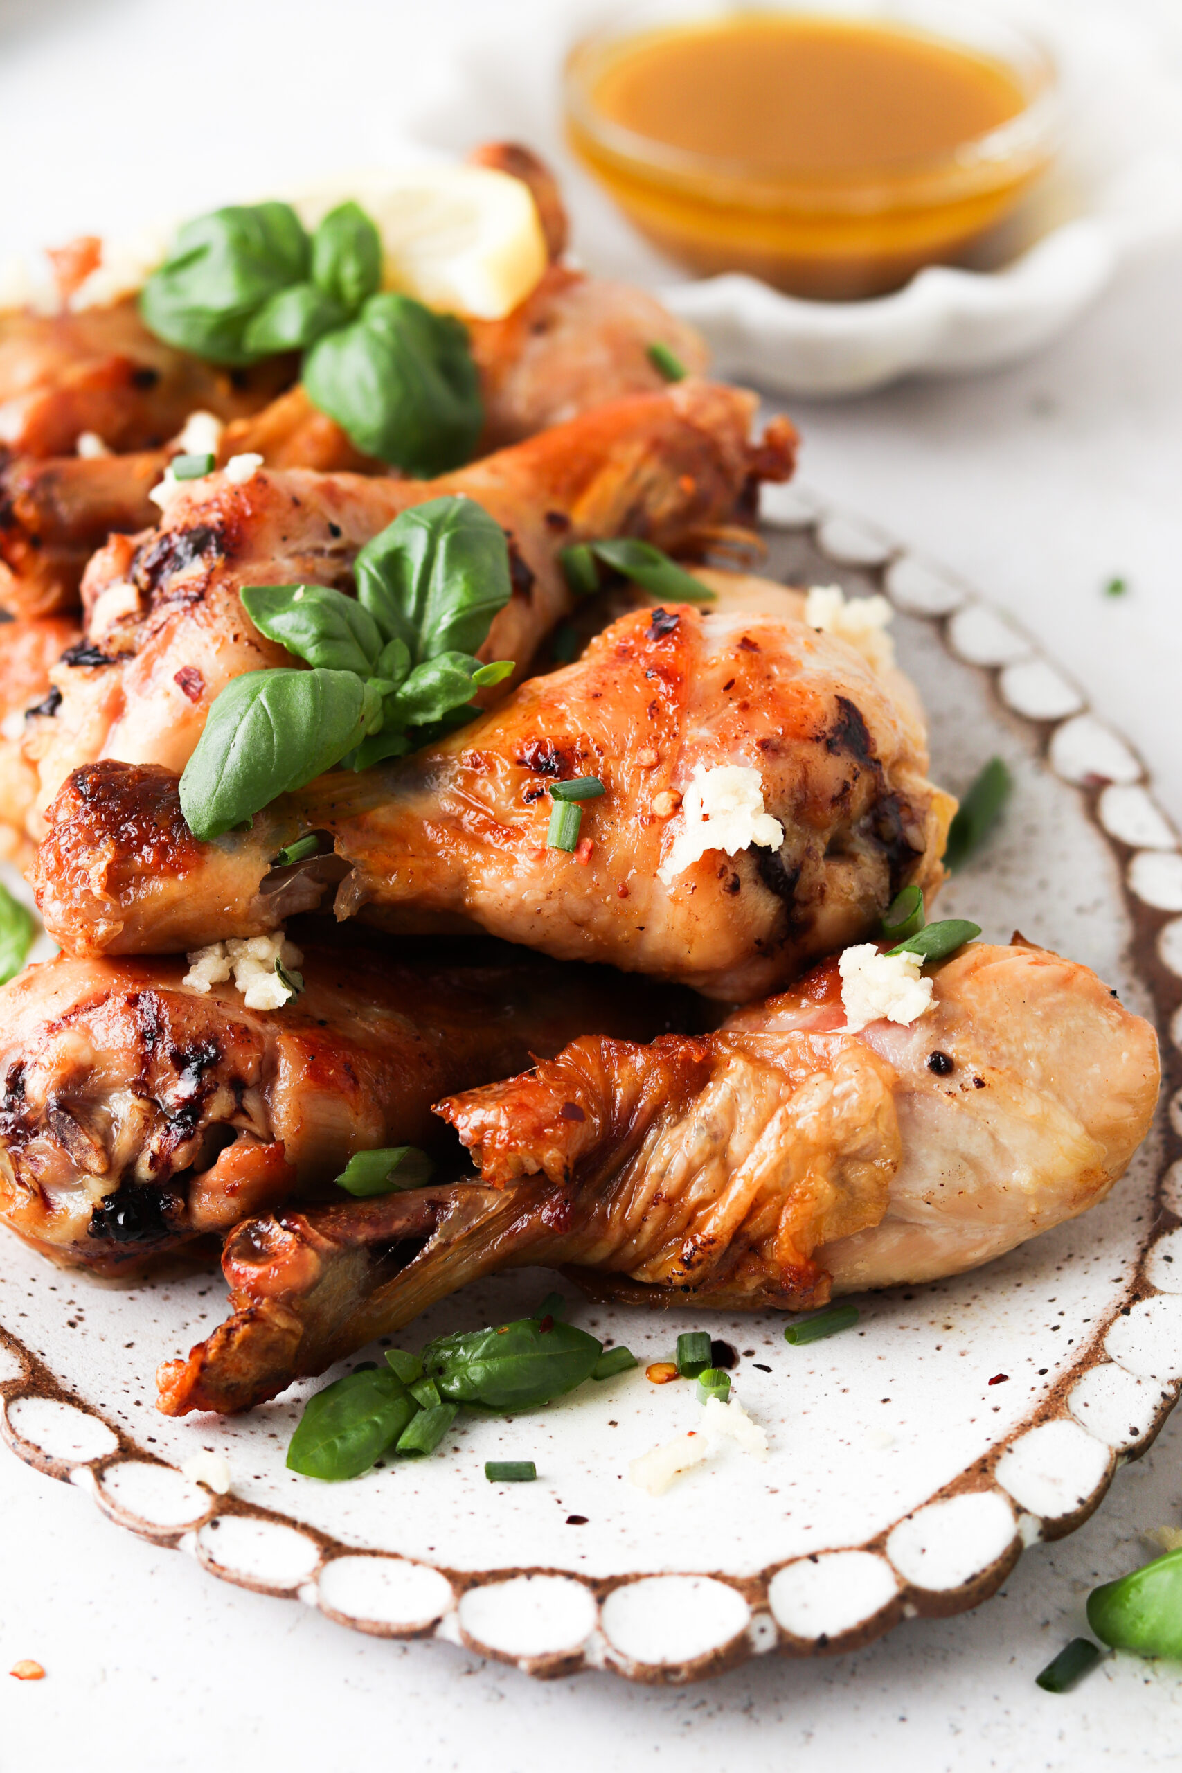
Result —
M498 1330L439 1337L424 1349L424 1372L455 1404L537 1410L590 1379L603 1342L574 1324L519 1317Z

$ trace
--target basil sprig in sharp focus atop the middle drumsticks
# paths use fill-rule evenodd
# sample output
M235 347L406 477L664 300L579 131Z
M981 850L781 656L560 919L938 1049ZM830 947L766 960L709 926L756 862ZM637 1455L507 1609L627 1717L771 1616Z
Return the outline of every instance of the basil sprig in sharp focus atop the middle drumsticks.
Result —
M356 599L326 585L248 585L255 628L307 661L222 690L181 777L181 808L209 840L347 761L369 769L471 720L475 690L510 660L473 649L509 601L509 544L470 498L415 505L356 558Z

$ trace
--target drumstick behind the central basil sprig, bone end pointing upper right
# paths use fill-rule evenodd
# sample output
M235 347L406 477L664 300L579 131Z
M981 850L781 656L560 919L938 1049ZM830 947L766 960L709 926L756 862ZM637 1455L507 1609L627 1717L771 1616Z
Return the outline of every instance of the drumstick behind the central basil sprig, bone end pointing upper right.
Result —
M480 651L517 660L525 676L571 601L558 564L567 543L626 534L684 548L744 509L760 479L787 477L794 434L780 420L750 441L753 410L750 394L686 381L601 406L439 480L292 468L239 484L186 482L159 530L113 535L87 569L97 656L58 667L62 702L30 723L25 754L41 777L30 835L41 835L39 812L71 769L117 757L179 773L232 677L292 663L245 615L241 585L347 587L363 543L443 493L478 500L510 534L516 590Z

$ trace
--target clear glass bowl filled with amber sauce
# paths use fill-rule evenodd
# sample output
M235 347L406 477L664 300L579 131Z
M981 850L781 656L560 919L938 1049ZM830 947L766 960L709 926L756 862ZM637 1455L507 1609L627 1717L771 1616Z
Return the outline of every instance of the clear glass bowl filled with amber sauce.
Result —
M603 32L572 51L565 106L579 158L673 259L829 300L978 250L1058 137L1049 57L945 5Z

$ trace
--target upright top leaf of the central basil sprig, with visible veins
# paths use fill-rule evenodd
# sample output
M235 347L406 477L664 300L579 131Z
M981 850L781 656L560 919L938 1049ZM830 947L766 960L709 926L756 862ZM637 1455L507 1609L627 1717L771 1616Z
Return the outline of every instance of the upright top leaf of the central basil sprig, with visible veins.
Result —
M471 498L411 505L365 543L354 574L358 601L416 665L477 652L512 596L505 532Z

